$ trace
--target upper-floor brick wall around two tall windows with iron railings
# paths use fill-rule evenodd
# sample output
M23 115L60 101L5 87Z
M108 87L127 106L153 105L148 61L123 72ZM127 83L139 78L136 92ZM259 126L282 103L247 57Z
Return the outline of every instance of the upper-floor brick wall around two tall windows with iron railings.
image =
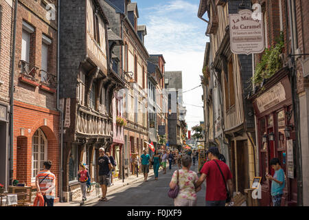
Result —
M14 99L56 111L56 93L49 93L47 91L39 89L39 87L27 85L19 80L19 74L21 72L21 67L19 67L19 61L21 60L21 39L23 21L32 25L35 30L34 33L30 35L30 63L41 69L42 35L45 34L49 36L50 39L52 39L52 45L48 47L49 54L47 72L56 76L58 40L57 30L54 28L55 21L49 23L47 21L43 21L43 15L46 14L47 10L45 10L45 8L43 8L43 6L40 4L41 1L21 2L24 2L26 5L24 5L23 3L19 3L16 23L16 71L14 74ZM27 6L27 4L29 5ZM38 78L41 80L41 76L39 76Z

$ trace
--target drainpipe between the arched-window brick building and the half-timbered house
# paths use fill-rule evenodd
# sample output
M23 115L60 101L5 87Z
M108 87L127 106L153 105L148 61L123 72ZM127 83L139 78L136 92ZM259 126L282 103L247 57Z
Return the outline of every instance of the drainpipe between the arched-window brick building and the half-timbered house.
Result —
M60 112L60 167L59 167L59 188L60 188L60 202L63 202L63 190L62 190L62 180L63 180L63 112L59 107L59 76L60 76L60 0L58 0L58 33L57 33L57 111Z

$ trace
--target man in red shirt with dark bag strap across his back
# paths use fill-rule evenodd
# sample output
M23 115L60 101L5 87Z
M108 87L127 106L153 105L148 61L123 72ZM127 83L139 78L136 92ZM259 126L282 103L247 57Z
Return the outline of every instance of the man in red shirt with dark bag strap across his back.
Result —
M220 155L218 148L211 146L206 154L210 161L206 162L201 169L202 175L196 182L196 188L201 186L206 179L206 206L225 206L225 201L227 200L227 187L225 186L225 181L229 186L230 195L233 195L231 171L227 164L218 159ZM220 166L222 170L225 181L223 180L218 166ZM231 198L231 201L233 201L233 198Z

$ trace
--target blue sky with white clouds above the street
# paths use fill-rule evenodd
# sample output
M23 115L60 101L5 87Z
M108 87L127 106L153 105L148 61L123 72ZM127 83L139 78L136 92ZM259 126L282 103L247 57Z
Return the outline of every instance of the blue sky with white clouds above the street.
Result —
M183 72L183 91L201 85L200 75L207 23L198 19L200 0L133 0L139 10L138 25L147 26L145 46L149 54L163 54L165 71ZM204 120L203 89L183 94L188 130ZM198 107L195 107L195 106Z

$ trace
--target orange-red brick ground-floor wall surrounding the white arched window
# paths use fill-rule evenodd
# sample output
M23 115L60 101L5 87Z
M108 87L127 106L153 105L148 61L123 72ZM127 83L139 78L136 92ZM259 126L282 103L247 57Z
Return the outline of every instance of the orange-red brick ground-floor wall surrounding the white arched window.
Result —
M37 129L41 129L47 137L47 159L53 164L51 171L56 175L58 195L60 147L59 113L57 111L14 101L13 178L25 182L27 186L35 185L31 182L32 137Z

